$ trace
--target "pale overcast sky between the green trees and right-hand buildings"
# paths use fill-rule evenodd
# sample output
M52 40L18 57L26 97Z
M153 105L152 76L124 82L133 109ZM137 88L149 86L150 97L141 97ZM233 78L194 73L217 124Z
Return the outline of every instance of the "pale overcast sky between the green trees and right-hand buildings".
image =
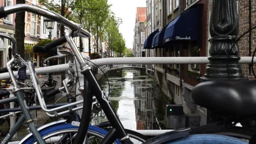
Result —
M146 0L108 0L111 10L123 19L119 31L125 38L127 48L133 48L133 29L135 27L136 8L146 7Z

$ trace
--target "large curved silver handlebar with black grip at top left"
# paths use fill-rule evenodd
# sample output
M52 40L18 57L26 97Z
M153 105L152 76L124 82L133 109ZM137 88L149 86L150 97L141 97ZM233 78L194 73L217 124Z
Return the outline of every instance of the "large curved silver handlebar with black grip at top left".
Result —
M85 31L84 29L82 29L79 24L69 21L68 19L64 18L63 16L61 16L57 13L54 13L54 12L51 12L51 11L48 11L48 10L45 10L43 8L39 8L39 7L36 7L33 5L17 4L17 5L11 5L8 7L0 7L0 18L6 17L7 15L12 14L12 13L19 13L19 12L24 12L24 11L29 11L29 12L35 13L37 15L57 21L61 24L64 24L65 26L72 29L73 37L79 36L79 34L81 34L81 36L83 36L83 37L90 37L90 33Z

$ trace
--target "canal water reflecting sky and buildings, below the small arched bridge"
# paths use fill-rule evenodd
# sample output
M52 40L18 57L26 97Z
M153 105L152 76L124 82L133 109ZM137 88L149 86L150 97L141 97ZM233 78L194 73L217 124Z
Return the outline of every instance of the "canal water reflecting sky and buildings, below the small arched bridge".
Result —
M125 128L131 130L165 129L165 105L171 101L155 79L140 70L120 70L110 75L109 101ZM102 85L108 88L107 80ZM102 111L94 112L92 123L107 120Z

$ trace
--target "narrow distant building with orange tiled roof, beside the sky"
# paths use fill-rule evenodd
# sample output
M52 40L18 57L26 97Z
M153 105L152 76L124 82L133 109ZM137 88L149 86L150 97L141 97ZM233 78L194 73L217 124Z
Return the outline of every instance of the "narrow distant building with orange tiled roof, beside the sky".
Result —
M145 22L146 20L146 7L138 7L136 10L136 22L134 27L134 41L133 52L135 57L145 57L144 42L145 35Z

